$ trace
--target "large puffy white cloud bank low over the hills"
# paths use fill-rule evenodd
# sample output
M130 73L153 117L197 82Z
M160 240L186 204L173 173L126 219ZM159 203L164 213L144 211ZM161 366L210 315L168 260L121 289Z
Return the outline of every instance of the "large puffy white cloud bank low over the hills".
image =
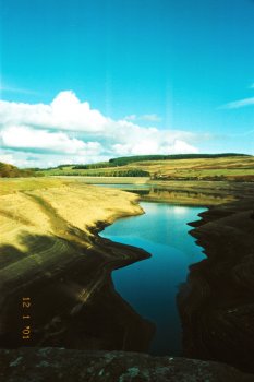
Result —
M51 104L0 100L0 160L21 167L93 163L122 155L197 153L195 136L135 123L156 115L113 120L71 91Z

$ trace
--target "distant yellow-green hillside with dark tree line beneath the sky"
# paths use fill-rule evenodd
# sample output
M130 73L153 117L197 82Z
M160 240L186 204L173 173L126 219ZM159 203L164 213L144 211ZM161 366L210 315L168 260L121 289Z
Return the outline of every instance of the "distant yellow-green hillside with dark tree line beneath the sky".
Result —
M152 160L154 156L110 159L95 165L69 165L44 170L48 176L149 177L153 180L254 181L254 156L189 155ZM142 160L138 160L142 158ZM149 158L149 159L148 159ZM112 162L113 160L113 162ZM120 163L120 165L119 165ZM109 165L110 164L110 165ZM98 167L96 167L98 166Z

